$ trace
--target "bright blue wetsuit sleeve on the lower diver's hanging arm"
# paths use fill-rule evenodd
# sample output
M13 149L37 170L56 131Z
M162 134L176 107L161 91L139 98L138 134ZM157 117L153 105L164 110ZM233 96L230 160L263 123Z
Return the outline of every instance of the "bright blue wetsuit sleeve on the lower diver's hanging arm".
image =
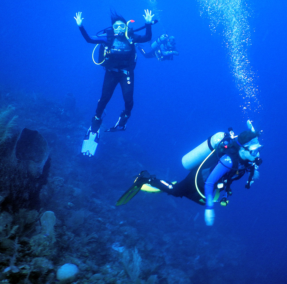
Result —
M229 156L224 155L220 158L220 161L228 168L232 168L232 161ZM213 208L213 191L214 191L214 184L230 169L223 166L220 162L216 165L216 167L212 170L208 178L204 183L204 192L206 197L206 209Z

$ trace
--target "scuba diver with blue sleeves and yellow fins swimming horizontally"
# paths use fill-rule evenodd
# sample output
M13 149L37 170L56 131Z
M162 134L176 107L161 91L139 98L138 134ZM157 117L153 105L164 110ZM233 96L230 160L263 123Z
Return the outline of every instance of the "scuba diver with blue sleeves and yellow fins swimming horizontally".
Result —
M232 128L228 133L218 132L182 158L182 164L190 170L188 176L179 183L157 179L147 171L139 173L134 184L121 196L116 205L127 203L139 190L147 192L166 192L175 197L187 197L200 205L205 205L204 219L208 226L214 223L214 203L228 204L232 195L230 188L234 180L239 180L245 172L249 173L246 188L259 177L258 167L261 148L250 120L249 130L234 136Z

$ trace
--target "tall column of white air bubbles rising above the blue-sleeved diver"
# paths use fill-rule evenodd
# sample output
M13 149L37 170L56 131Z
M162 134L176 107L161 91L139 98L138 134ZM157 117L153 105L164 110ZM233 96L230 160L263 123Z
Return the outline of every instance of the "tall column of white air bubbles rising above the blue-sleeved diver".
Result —
M243 107L244 118L250 118L254 111L262 110L259 103L258 77L248 59L248 46L250 43L250 28L248 24L249 14L247 4L241 0L198 0L200 14L210 20L210 29L216 32L218 23L222 23L223 29L218 30L223 35L229 57L229 65L239 89L240 95L247 107ZM250 98L253 100L250 101Z

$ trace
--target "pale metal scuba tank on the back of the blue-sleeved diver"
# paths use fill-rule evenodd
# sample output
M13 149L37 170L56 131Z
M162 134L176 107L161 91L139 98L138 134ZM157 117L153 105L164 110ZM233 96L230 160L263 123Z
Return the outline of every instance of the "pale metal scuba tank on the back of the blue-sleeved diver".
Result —
M218 144L224 138L224 132L218 132L209 137L206 141L198 145L189 153L183 156L181 162L185 169L192 170L199 166L201 162L217 148Z

